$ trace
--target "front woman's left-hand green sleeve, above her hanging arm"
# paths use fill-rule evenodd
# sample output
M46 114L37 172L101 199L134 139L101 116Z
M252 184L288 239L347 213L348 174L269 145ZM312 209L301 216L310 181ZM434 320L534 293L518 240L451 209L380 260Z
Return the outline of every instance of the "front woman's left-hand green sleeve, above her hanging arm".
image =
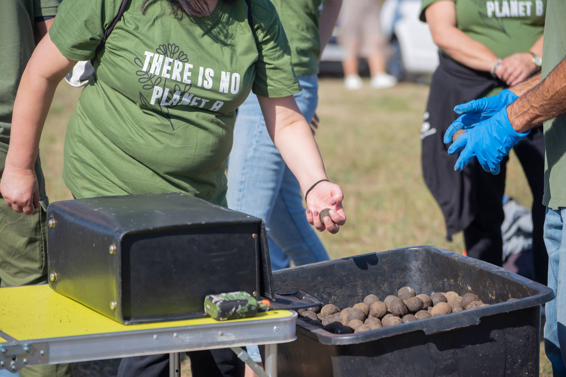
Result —
M65 0L49 29L49 36L64 57L90 60L104 31L118 14L118 0ZM121 3L121 2L120 2Z

